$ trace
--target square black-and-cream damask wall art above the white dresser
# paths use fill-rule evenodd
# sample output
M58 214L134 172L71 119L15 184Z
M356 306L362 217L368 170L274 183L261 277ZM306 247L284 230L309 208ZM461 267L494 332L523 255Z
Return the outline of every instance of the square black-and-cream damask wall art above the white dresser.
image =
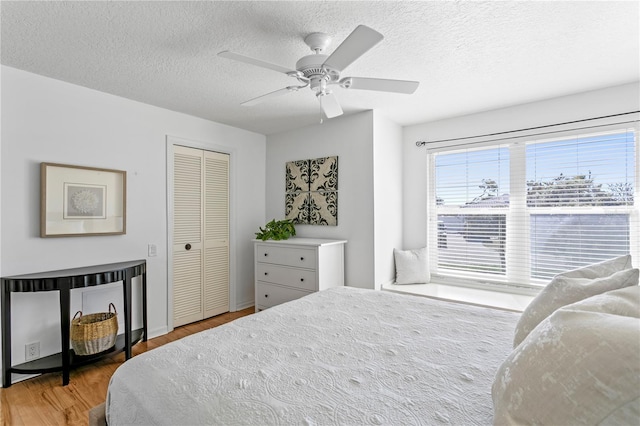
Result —
M285 217L296 224L338 225L338 157L286 164Z

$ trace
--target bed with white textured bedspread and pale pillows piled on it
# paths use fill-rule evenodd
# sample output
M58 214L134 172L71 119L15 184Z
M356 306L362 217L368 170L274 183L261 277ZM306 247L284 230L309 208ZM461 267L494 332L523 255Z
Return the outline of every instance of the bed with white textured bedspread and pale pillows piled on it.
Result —
M109 425L640 424L640 271L555 276L520 315L340 287L138 355Z

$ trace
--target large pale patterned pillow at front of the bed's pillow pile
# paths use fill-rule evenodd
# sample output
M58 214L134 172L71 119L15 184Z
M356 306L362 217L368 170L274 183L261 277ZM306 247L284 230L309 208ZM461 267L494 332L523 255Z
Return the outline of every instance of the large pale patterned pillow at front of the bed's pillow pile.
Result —
M500 366L494 425L638 424L640 287L547 317Z

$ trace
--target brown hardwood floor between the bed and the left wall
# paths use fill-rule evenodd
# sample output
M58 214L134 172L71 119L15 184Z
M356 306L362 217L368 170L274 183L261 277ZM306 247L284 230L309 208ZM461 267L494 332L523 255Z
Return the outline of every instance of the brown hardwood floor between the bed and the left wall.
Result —
M233 321L255 311L253 307L228 312L200 322L176 328L164 336L138 343L138 355L199 331ZM83 425L91 408L105 400L109 379L124 362L124 354L103 359L71 371L70 382L62 386L62 373L49 373L0 389L0 423L2 425Z

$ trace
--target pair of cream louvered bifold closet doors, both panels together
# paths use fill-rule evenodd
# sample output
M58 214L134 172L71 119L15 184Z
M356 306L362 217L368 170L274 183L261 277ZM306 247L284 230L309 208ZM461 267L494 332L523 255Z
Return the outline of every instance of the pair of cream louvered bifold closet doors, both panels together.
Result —
M173 326L229 311L229 155L173 147Z

